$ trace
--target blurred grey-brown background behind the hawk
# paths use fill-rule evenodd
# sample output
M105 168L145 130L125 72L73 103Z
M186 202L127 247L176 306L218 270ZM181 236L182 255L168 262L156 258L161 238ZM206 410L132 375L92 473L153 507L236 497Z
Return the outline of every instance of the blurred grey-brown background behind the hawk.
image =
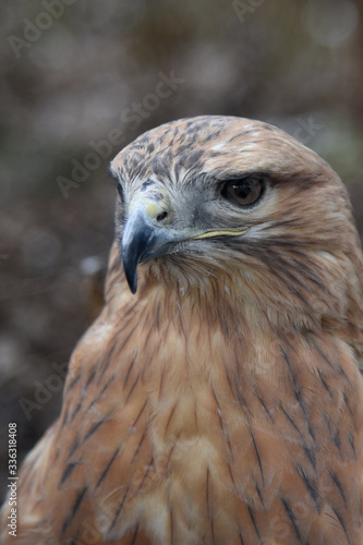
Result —
M277 124L327 159L363 233L361 0L12 0L1 15L0 476L57 417L102 304L109 160L201 113ZM0 491L1 494L1 491Z

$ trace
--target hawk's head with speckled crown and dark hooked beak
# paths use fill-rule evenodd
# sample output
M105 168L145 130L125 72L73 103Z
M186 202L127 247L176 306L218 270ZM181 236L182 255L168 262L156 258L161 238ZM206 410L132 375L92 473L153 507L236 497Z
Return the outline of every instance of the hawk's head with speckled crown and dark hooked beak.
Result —
M208 291L307 328L349 320L352 299L361 307L344 186L282 131L232 117L179 120L136 138L111 172L133 293L138 269L143 287Z

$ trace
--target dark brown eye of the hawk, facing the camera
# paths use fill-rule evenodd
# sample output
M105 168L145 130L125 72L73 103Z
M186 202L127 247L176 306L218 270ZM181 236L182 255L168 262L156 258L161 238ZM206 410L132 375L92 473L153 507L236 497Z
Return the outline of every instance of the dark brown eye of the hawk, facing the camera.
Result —
M258 175L228 180L222 185L221 195L233 204L247 206L258 201L265 185L265 179Z

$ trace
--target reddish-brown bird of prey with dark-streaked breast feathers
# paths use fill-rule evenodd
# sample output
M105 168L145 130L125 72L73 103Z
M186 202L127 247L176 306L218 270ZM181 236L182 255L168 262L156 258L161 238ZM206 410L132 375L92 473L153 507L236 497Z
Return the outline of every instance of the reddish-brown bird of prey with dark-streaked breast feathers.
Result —
M105 307L17 482L26 545L361 545L363 257L282 131L197 117L111 162Z

